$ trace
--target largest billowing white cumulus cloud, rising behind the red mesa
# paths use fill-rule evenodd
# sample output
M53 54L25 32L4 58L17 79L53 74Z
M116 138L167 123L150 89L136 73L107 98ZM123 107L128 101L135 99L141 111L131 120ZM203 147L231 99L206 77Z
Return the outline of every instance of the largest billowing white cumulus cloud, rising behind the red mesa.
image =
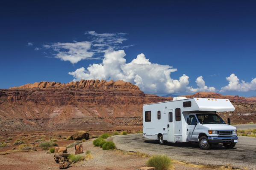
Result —
M82 67L68 74L74 77L74 81L81 79L129 81L145 92L158 94L215 91L214 87L205 86L202 76L197 78L198 88L194 89L188 86L189 77L185 74L178 80L171 78L171 72L177 71L172 66L151 63L142 53L127 63L125 55L124 50L106 51L102 64L92 64L87 69Z

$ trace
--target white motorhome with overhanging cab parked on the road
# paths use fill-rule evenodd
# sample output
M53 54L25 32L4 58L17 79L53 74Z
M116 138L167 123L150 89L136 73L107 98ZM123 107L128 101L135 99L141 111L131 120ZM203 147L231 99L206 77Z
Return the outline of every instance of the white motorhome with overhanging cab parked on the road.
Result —
M227 148L238 142L236 128L217 115L234 111L229 99L177 97L143 105L143 136L168 142L198 142L207 150L212 144L222 143Z

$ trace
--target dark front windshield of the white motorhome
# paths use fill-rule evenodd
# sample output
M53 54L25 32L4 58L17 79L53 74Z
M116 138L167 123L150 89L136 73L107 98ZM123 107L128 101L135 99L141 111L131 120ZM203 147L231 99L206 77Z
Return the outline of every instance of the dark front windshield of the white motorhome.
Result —
M225 121L217 114L197 114L200 124L226 124Z

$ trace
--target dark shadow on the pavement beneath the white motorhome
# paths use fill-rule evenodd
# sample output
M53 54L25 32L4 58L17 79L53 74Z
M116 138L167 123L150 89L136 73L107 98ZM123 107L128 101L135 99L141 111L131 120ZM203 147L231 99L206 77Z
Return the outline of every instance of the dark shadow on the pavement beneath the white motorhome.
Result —
M150 144L159 144L158 140L144 140L145 143L150 143ZM176 142L176 143L171 143L171 142L166 142L165 146L172 146L172 147L187 147L187 148L198 148L200 149L199 145L197 142ZM227 150L226 147L224 147L222 144L213 144L210 150ZM235 150L235 148L229 149L229 150Z

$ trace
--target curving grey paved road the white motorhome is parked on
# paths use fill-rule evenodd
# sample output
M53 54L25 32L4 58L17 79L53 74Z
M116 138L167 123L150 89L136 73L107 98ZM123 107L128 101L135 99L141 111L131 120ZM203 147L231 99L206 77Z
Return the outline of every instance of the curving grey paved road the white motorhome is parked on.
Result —
M234 149L219 144L211 150L200 150L198 144L168 143L145 139L142 134L120 135L113 138L118 149L140 151L150 155L166 154L173 159L194 164L227 165L256 170L256 138L239 137Z

